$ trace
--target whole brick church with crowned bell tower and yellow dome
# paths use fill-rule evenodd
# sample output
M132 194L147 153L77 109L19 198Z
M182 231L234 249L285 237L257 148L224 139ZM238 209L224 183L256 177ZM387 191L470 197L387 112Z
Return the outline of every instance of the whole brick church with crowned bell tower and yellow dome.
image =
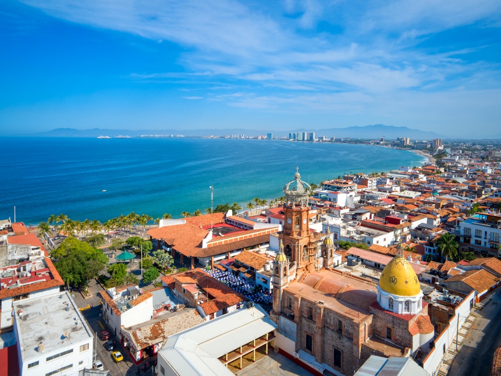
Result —
M353 374L371 354L426 353L434 330L409 262L399 253L379 283L333 269L329 234L310 232L311 187L299 171L284 193L271 314L279 351L319 373L337 375Z

